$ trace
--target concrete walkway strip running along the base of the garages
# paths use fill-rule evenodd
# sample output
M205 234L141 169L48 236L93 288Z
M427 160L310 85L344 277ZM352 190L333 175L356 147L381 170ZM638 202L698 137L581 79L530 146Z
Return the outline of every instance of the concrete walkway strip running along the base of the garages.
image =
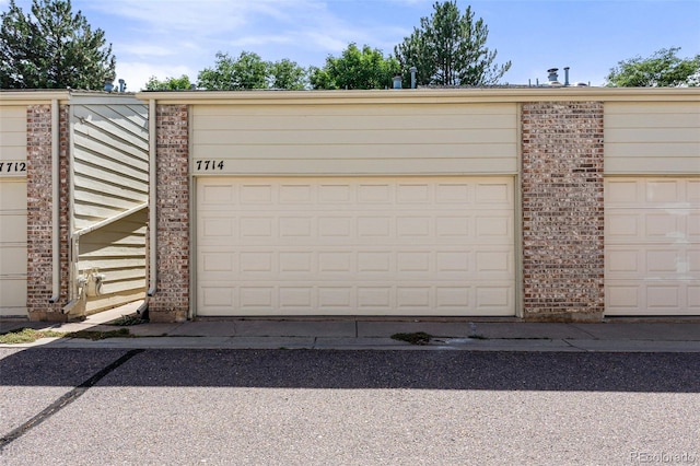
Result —
M139 303L69 324L0 322L0 333L23 327L61 333L128 328L130 338L43 338L22 348L198 348L198 349L382 349L469 351L615 351L700 352L700 319L632 321L599 324L535 324L513 319L377 319L377 318L235 318L180 324L108 325L132 315ZM423 345L393 339L395 334L425 333ZM133 338L133 336L138 338Z

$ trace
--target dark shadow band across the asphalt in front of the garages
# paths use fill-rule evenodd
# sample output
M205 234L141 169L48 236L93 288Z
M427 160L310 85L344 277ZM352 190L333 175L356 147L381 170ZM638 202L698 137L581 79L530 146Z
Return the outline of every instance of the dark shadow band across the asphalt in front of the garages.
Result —
M129 354L130 353L130 354ZM0 386L700 393L695 353L377 350L0 350Z

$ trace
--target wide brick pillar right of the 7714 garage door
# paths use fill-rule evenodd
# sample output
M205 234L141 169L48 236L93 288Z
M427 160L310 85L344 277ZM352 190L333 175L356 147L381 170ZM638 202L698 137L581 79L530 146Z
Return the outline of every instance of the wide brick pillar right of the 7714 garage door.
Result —
M600 321L603 104L524 104L522 137L524 318Z

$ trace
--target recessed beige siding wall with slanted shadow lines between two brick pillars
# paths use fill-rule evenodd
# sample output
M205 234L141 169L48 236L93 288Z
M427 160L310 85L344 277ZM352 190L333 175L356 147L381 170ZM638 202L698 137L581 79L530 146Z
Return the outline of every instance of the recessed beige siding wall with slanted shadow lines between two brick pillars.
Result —
M101 294L89 298L88 312L95 312L143 298L148 107L113 102L71 112L73 232L104 222L79 238L79 273L96 268L106 277Z

